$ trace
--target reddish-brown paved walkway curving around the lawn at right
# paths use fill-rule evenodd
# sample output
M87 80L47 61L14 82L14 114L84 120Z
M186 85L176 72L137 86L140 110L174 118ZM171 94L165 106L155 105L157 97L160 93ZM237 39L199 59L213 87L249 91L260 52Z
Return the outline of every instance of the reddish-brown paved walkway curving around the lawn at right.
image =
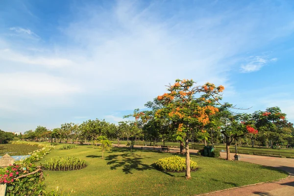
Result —
M120 146L123 147L125 145ZM153 147L150 146L134 145L134 147L153 149ZM155 149L161 150L161 147L155 147ZM196 153L197 151L198 150L190 149L191 153ZM179 148L171 148L171 152L179 152ZM231 158L234 159L234 153L231 153L230 155ZM241 161L278 168L280 170L288 172L290 176L277 182L268 182L260 183L257 185L237 187L229 190L204 194L202 196L294 196L294 159L249 154L240 154L240 156ZM221 152L221 158L226 158L225 152Z

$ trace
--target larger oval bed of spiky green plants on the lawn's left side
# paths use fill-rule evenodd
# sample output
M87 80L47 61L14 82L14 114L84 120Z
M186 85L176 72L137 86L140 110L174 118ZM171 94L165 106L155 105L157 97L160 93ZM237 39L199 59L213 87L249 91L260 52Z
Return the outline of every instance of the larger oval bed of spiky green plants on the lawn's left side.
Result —
M57 157L55 159L45 161L42 166L45 170L50 171L68 171L82 169L86 167L85 163L85 160L76 157Z

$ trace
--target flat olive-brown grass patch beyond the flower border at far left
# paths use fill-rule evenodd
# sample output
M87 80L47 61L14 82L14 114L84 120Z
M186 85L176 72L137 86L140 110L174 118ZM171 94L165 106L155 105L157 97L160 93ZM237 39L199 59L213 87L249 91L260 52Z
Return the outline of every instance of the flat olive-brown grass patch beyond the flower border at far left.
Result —
M5 155L6 153L10 156L20 156L27 155L29 152L33 152L40 147L37 146L29 146L23 144L1 144L0 145L0 156Z

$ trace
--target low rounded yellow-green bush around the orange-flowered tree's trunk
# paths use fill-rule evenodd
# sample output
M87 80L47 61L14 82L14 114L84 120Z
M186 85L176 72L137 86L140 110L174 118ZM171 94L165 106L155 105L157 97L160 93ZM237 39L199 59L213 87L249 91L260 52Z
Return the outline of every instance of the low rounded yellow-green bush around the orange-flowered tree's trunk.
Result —
M186 170L186 159L179 156L172 156L159 159L155 162L156 167L166 172L182 172ZM195 171L198 166L195 161L190 161L190 168Z

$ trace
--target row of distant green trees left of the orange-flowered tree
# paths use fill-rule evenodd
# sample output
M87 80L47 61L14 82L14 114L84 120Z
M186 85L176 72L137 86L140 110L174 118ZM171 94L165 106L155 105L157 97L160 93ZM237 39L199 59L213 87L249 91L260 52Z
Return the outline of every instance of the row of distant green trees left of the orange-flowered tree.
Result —
M61 142L66 140L68 142L93 142L97 143L100 136L106 136L110 139L118 140L125 139L143 140L143 131L136 123L132 121L120 122L118 125L108 123L104 120L88 120L81 124L64 123L59 128L52 130L44 126L38 126L35 130L28 130L21 139L29 141L48 141Z

